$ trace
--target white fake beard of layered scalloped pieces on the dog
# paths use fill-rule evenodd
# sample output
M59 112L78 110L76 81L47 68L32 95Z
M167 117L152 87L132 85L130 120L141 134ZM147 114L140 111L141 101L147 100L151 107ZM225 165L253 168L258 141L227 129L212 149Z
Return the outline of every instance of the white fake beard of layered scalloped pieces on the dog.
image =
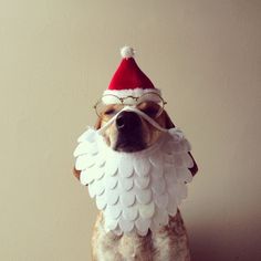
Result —
M168 225L187 197L185 182L192 179L188 140L177 128L165 129L152 147L122 153L106 145L102 130L88 128L82 134L74 156L81 182L88 185L104 213L106 231L145 236L148 229L154 232Z

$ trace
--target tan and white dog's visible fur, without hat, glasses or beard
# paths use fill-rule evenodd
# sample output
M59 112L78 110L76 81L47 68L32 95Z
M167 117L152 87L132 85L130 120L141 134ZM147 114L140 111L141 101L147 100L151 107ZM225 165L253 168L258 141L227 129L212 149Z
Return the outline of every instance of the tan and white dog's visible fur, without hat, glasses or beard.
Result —
M107 105L100 115L96 129L103 127L122 109L122 105ZM156 117L153 103L143 103L139 109L154 118L164 128L175 127L170 117L163 111ZM117 152L134 153L153 146L161 136L161 132L152 126L135 112L121 112L116 121L103 134L106 144ZM189 153L194 166L189 168L192 176L198 171L197 164ZM80 178L80 171L74 168ZM94 226L92 238L92 259L94 261L188 261L190 251L188 236L178 210L169 222L156 232L150 230L145 237L139 234L121 234L105 231L104 217L100 212Z

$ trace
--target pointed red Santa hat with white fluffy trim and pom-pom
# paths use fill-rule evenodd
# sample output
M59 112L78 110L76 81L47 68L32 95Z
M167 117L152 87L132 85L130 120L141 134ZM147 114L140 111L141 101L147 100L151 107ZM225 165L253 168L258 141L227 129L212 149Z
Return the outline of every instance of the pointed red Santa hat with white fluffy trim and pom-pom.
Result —
M103 93L103 102L109 104L118 101L115 96L119 98L128 96L140 97L144 94L146 94L146 100L157 100L160 91L154 86L152 81L138 67L134 60L134 49L124 46L121 49L121 54L122 62L114 73L108 88Z

